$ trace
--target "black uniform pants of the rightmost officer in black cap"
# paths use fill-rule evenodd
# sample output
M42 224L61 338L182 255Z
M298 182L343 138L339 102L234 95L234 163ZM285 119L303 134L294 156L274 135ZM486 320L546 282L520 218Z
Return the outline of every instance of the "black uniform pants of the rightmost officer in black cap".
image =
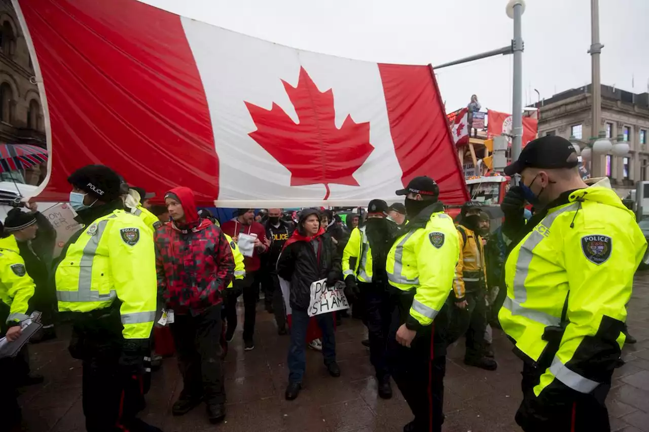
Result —
M516 422L525 432L610 432L606 396L610 385L602 384L591 394L574 390L555 392L546 387L541 394L534 394L541 375L548 365L533 367L523 363L521 387L523 401L516 413ZM554 382L550 386L563 386Z

